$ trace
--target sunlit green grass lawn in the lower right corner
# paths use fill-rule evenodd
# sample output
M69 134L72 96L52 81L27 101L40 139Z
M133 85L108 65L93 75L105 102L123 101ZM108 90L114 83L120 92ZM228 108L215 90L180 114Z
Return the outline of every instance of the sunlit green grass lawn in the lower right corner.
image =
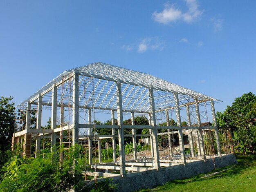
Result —
M140 192L195 192L195 191L207 191L207 192L255 192L256 191L256 155L249 156L236 156L238 165L231 165L223 167L214 172L224 170L219 174L201 178L206 174L200 174L198 176L174 180L164 185L159 185L153 189L144 189ZM231 168L229 170L225 170ZM211 172L211 173L214 173ZM208 173L208 174L211 174Z

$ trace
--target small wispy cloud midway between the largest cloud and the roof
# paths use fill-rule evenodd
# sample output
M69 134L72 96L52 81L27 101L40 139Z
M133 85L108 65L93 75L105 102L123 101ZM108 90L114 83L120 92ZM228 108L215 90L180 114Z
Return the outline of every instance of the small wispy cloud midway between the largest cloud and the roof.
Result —
M142 39L138 44L138 52L145 52L146 50L151 49L164 49L164 42L160 41L158 37L149 37Z

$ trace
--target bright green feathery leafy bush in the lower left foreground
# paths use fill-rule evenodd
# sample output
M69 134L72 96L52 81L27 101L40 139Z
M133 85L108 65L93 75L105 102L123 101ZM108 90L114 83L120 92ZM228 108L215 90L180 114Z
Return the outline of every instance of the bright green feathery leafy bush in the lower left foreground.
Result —
M44 151L37 158L13 156L2 167L4 176L0 191L68 191L82 178L84 159L78 158L79 145L65 152L62 165L59 156ZM75 163L74 163L75 159Z

